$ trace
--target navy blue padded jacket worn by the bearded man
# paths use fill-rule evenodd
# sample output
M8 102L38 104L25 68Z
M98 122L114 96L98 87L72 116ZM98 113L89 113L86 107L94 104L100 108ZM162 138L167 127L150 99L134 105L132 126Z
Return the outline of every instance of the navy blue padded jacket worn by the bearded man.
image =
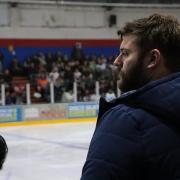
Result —
M180 180L180 73L100 99L81 180Z

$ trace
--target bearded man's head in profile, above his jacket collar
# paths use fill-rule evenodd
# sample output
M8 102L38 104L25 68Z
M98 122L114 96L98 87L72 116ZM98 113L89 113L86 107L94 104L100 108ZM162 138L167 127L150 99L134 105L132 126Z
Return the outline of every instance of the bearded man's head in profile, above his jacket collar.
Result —
M135 90L180 71L180 25L173 16L153 14L128 22L118 31L122 43L115 59L119 88Z

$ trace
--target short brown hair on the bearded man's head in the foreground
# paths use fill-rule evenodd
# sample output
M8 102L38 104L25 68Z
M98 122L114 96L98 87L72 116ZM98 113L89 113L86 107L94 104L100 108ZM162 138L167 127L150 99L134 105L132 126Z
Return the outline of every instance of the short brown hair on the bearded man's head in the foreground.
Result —
M180 71L180 24L170 15L152 14L128 22L118 31L124 35L133 34L143 52L158 49L165 59L165 65L172 72Z

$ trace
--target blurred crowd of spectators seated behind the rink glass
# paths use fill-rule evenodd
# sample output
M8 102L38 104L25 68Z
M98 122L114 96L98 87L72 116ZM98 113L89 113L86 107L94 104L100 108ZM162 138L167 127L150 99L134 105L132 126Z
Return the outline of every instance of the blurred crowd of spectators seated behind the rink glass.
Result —
M9 69L1 73L1 84L5 84L6 104L26 103L25 84L13 82L13 77L26 77L32 97L41 102L50 102L50 83L54 85L55 102L73 101L73 83L77 82L77 101L96 101L96 81L100 96L116 96L116 66L114 57L104 55L86 56L81 44L76 43L71 56L39 52L19 63L13 57Z

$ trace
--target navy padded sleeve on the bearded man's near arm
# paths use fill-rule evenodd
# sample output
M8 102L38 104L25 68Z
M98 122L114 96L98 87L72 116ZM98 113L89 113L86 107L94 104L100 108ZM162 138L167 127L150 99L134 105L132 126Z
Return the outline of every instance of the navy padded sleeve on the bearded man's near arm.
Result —
M141 138L127 108L114 108L101 118L91 140L81 180L126 180L138 174Z

